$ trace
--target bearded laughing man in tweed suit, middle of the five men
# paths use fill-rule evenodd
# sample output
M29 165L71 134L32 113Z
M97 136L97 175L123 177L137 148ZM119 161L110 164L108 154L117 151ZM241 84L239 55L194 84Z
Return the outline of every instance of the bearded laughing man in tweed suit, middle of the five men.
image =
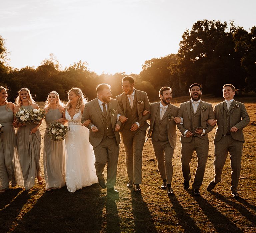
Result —
M167 188L168 195L174 195L171 183L173 175L172 157L176 146L176 123L174 118L179 108L170 104L172 89L162 87L159 91L160 102L150 104L150 129L146 141L151 136L158 170L163 179L162 189Z

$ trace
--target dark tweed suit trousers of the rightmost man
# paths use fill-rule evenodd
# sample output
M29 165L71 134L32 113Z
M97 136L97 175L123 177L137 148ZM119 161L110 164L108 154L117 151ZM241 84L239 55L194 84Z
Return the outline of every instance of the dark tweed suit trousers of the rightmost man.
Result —
M241 172L243 142L233 139L231 135L222 136L219 141L214 142L214 182L217 183L221 180L222 169L228 152L231 165L231 191L237 192Z

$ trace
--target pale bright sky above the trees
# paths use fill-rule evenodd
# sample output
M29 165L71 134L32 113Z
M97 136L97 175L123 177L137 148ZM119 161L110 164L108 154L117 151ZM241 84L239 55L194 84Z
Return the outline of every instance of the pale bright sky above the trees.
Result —
M97 74L139 74L146 60L176 54L198 20L256 25L253 0L1 0L0 35L9 65L62 69L85 61Z

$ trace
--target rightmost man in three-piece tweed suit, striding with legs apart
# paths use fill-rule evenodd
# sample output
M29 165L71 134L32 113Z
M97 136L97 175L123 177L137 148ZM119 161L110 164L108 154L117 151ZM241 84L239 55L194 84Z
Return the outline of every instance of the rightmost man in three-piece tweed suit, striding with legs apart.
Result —
M250 117L244 104L235 101L236 90L232 84L222 88L225 101L214 106L217 129L214 137L214 179L209 183L207 191L211 191L220 182L223 166L228 152L231 160L231 192L232 197L239 197L238 182L241 171L244 134L243 128L249 124ZM210 123L210 122L209 122ZM212 123L214 125L214 121Z

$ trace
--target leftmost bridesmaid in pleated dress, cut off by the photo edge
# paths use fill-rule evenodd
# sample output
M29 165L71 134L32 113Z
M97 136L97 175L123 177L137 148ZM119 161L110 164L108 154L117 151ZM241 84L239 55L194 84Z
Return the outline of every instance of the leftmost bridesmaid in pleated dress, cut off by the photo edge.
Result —
M12 187L17 184L15 179L17 148L12 125L14 104L7 102L7 97L7 90L0 86L0 124L3 126L3 133L0 134L0 193L9 189L9 181Z

